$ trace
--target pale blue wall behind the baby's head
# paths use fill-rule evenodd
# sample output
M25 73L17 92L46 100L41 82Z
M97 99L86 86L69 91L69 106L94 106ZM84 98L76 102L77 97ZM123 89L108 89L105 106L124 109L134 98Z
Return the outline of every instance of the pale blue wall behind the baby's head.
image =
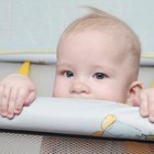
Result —
M92 6L127 22L140 36L143 52L154 53L153 0L0 0L1 48L51 48L63 30Z

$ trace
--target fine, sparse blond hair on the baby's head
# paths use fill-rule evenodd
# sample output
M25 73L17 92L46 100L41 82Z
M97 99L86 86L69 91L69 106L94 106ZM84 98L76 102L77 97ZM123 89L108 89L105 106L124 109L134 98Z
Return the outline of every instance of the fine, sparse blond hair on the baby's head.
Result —
M121 53L121 59L127 59L127 62L129 62L132 74L134 75L133 79L135 80L139 74L141 57L141 44L136 34L120 19L92 7L86 8L89 9L89 13L85 16L78 18L73 23L70 23L63 32L59 43L64 37L77 34L86 30L96 30L100 32L108 31L111 34L116 34L118 40L120 37L124 40L122 43L124 43L128 52L123 51Z

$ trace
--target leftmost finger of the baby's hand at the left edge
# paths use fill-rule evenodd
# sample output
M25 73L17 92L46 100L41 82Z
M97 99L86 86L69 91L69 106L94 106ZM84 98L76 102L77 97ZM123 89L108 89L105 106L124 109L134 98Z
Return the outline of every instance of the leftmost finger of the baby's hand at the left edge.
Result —
M11 92L11 88L3 87L3 91L1 96L1 107L0 107L0 114L2 117L7 117L7 113L8 113L10 92Z

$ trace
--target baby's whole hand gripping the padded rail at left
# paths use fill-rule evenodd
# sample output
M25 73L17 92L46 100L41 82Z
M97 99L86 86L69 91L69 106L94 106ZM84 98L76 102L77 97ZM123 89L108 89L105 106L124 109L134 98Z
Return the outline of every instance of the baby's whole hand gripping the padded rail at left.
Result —
M29 77L13 74L0 81L0 116L12 119L34 99L35 86Z

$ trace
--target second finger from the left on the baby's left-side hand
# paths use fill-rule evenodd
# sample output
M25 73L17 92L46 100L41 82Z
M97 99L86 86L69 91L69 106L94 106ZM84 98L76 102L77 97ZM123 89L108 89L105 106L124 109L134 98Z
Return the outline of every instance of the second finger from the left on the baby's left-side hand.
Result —
M7 113L7 117L9 119L12 119L14 117L14 107L15 107L15 103L16 103L16 96L18 96L18 89L12 88L11 91L10 91L10 99L9 99L8 113Z

